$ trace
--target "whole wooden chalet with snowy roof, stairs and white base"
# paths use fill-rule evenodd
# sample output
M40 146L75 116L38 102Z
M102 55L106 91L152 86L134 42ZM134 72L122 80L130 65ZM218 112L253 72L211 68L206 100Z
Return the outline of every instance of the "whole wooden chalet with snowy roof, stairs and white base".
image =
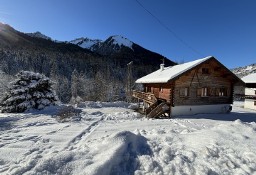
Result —
M147 117L227 113L232 109L233 88L243 82L216 58L209 56L148 74L136 83L144 91L133 91L142 100Z

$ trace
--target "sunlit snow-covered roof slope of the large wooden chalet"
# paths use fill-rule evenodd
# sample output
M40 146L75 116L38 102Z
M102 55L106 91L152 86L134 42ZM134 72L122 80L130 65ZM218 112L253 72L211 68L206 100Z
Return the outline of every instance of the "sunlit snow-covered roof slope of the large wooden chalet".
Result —
M197 65L205 62L206 60L209 60L210 58L213 58L213 57L208 56L208 57L187 62L184 64L165 67L163 70L158 69L157 71L152 72L151 74L148 74L142 78L139 78L138 80L136 80L136 83L167 83L169 80L196 67Z

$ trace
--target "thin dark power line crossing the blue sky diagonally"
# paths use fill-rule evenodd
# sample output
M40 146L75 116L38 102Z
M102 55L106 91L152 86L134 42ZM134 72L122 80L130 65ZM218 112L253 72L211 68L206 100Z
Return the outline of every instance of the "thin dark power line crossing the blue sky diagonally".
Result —
M177 40L179 40L182 44L184 44L186 47L188 47L190 50L192 50L194 53L196 53L199 56L203 56L200 52L198 52L196 49L191 47L187 42L185 42L182 38L180 38L173 30L171 30L168 26L166 26L157 16L155 16L153 13L151 13L142 3L140 3L138 0L135 0L147 13L149 13L163 28L165 28L168 32L170 32Z

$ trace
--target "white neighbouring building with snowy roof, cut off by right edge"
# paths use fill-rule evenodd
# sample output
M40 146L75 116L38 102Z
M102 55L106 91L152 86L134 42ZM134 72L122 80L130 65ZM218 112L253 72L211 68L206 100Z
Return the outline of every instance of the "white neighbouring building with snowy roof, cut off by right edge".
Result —
M242 78L245 82L244 108L256 110L256 73Z

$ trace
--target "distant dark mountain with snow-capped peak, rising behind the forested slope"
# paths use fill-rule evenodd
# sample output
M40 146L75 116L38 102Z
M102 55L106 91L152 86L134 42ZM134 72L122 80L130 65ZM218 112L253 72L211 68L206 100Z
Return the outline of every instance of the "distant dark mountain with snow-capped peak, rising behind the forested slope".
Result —
M109 58L109 60L123 60L120 61L120 65L122 67L133 61L133 63L138 66L148 64L156 66L156 70L163 62L163 59L165 60L166 66L175 64L162 55L147 50L120 35L110 36L105 41L99 39L92 40L89 38L79 38L70 41L70 43L76 44L82 48L89 49L94 53Z

